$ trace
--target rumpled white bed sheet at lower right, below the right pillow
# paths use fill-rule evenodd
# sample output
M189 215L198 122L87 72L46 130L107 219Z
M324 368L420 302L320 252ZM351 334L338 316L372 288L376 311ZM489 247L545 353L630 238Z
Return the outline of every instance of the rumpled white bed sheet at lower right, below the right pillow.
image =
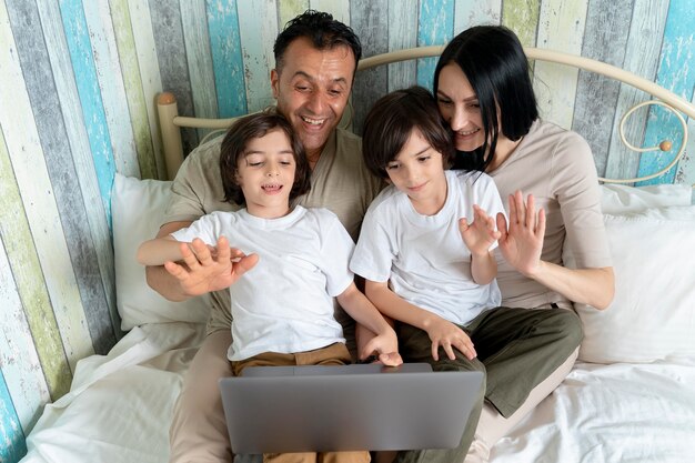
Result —
M494 446L494 463L695 461L695 359L577 363Z

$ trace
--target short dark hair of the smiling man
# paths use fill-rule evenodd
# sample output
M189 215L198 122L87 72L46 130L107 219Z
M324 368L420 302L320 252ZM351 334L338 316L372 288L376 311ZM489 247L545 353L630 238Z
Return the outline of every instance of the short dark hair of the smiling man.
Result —
M355 69L362 58L362 43L354 31L342 22L333 19L329 13L306 10L302 14L288 21L284 29L275 39L273 53L275 69L281 71L284 66L284 52L294 40L305 37L316 50L331 50L335 47L350 47L355 57Z

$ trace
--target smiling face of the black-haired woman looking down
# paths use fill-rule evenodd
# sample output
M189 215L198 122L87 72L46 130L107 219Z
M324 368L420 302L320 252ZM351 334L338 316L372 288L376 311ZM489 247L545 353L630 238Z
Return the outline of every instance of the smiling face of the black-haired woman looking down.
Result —
M485 142L477 95L459 64L449 63L440 72L436 101L442 118L454 134L459 151L474 151Z

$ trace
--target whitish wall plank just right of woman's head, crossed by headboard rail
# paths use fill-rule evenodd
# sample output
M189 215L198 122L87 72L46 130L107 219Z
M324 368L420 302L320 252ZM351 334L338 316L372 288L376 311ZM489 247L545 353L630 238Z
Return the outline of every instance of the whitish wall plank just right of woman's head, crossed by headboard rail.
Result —
M537 47L581 54L588 0L541 3ZM534 89L541 115L572 128L578 71L560 64L536 62Z

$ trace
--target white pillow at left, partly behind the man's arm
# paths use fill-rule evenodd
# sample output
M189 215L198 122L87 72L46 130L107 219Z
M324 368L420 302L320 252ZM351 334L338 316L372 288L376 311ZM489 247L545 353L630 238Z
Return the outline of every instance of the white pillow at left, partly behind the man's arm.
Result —
M140 243L154 238L159 230L171 182L138 180L119 173L111 192L115 298L121 329L143 323L205 323L210 313L207 296L170 302L153 291L144 278L144 266L135 260Z

